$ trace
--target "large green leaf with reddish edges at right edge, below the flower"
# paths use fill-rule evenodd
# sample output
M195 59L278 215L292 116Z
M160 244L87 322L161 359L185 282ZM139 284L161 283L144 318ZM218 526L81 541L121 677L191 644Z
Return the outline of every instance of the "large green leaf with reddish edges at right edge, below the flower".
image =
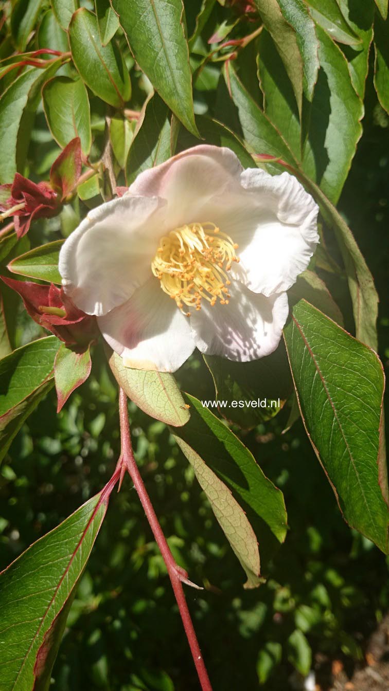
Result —
M387 552L381 362L304 300L293 307L284 339L302 419L343 516Z

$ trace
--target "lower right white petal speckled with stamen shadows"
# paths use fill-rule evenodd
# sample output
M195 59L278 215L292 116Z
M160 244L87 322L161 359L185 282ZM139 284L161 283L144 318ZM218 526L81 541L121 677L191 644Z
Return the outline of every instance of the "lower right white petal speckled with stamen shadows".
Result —
M201 304L190 317L197 348L207 355L248 362L269 355L280 342L289 312L286 293L265 297L242 283L230 285L228 305Z

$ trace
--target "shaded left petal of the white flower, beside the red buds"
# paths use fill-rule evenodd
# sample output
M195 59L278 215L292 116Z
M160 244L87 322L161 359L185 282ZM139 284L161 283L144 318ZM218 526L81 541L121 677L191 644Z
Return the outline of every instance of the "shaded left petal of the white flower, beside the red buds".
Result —
M147 280L163 207L156 197L124 196L89 211L60 252L62 285L77 307L101 316Z

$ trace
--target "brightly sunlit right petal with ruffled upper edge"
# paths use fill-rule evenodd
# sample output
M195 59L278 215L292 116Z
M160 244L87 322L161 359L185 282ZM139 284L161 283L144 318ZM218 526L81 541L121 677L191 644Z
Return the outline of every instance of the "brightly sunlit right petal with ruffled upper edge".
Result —
M271 177L248 169L241 180L246 205L242 203L240 221L235 215L234 227L228 228L240 258L231 275L256 293L288 290L316 249L318 206L289 173Z

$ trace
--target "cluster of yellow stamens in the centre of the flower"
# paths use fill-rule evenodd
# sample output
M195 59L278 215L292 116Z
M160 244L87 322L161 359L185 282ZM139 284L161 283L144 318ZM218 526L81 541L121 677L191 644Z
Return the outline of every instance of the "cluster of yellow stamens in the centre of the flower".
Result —
M211 306L219 300L228 305L228 275L237 245L215 223L189 223L170 231L159 240L152 272L162 290L184 312L184 305L201 310L201 300Z

